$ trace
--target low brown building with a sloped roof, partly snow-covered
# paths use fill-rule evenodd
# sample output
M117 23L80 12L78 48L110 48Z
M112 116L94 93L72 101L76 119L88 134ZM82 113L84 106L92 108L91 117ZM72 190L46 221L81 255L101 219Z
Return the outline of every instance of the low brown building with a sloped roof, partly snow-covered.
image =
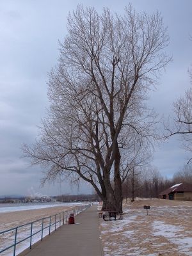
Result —
M192 201L192 184L187 182L175 184L159 195L162 199Z

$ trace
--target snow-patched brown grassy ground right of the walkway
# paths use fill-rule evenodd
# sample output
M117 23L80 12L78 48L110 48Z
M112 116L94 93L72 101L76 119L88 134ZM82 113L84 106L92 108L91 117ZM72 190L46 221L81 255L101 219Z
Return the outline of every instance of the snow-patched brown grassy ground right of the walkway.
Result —
M192 255L192 202L136 200L124 213L123 220L100 219L105 256Z

